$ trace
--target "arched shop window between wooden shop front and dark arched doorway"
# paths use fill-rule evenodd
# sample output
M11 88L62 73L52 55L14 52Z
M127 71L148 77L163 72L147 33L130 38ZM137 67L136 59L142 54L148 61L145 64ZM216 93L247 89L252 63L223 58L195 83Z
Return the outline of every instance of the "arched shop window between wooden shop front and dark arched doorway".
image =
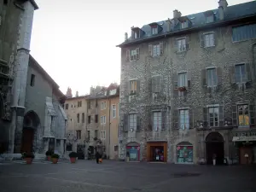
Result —
M177 144L177 163L193 164L193 145L189 142Z

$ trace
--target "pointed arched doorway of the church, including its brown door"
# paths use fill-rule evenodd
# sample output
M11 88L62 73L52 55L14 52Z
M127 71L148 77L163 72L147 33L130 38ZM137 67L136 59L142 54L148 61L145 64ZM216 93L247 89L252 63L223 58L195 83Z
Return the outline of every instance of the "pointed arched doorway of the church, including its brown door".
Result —
M34 142L37 139L37 131L40 120L38 114L30 111L27 112L23 120L22 142L20 152L34 152Z

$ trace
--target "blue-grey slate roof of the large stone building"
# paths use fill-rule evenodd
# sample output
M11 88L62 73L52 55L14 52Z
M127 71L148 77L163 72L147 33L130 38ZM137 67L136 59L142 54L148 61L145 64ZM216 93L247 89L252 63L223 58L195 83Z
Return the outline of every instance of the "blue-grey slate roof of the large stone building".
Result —
M213 11L215 15L215 20L212 23L206 23L206 12L208 11ZM141 38L128 38L127 41L123 42L122 44L117 45L117 47L125 47L130 44L137 44L141 43L143 41L148 41L154 38L160 38L160 37L165 37L166 35L172 35L172 34L177 34L178 32L186 32L189 31L193 28L201 28L203 26L210 26L213 25L214 23L220 24L220 23L226 23L227 21L230 20L240 20L242 18L247 18L247 17L252 17L256 15L256 1L248 2L248 3L241 3L241 4L236 4L233 6L228 6L227 9L225 10L225 15L224 15L224 20L219 20L219 13L218 9L212 9L212 10L207 10L201 13L197 14L192 14L192 15L185 15L185 17L188 17L188 19L191 21L191 25L186 28L186 29L180 29L177 26L172 27L171 31L168 31L168 23L170 23L169 20L161 20L156 22L158 25L160 25L163 29L162 31L157 34L157 35L152 35L151 34L151 26L144 25L141 29L143 30L144 34L143 37ZM184 16L183 16L184 17ZM176 20L176 19L174 19ZM152 23L151 23L152 24Z

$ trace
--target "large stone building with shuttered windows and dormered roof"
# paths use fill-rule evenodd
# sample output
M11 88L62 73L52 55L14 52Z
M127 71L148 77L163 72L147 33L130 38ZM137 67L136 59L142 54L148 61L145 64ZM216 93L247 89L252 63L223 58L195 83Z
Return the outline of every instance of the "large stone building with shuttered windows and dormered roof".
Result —
M125 33L119 159L221 164L248 154L253 162L255 15L255 2L220 0Z

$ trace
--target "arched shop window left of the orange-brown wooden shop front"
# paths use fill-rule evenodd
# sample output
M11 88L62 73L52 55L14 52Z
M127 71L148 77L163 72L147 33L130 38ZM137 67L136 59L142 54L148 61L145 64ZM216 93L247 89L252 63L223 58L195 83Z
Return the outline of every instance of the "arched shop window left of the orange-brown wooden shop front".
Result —
M138 143L132 142L126 145L126 160L127 161L140 160L140 146Z

